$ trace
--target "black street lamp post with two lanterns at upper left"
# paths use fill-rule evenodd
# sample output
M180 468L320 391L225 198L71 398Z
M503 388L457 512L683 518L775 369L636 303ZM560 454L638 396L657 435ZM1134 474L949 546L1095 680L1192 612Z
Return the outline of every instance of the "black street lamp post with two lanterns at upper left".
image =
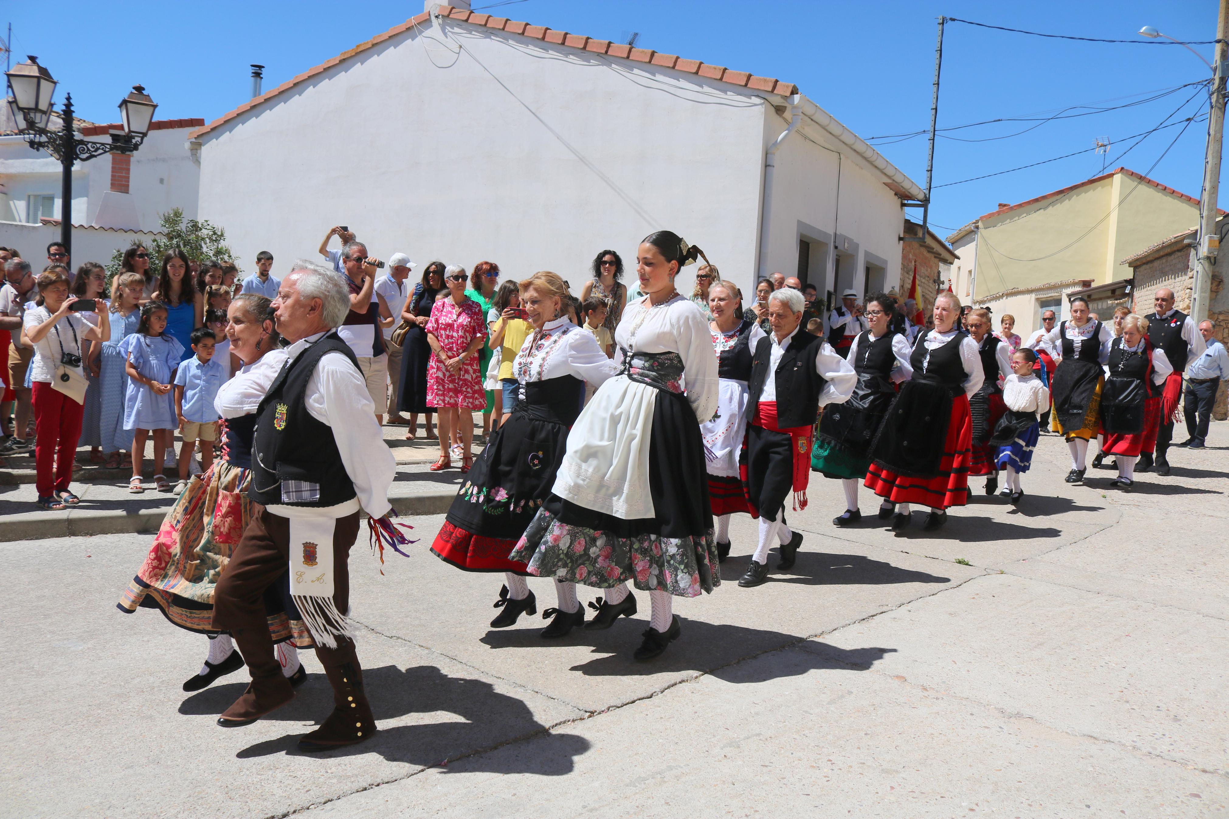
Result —
M145 93L145 88L133 86L132 93L119 102L123 134L111 134L111 142L95 142L79 139L73 129L73 95L64 95L60 108L60 128L50 129L52 96L55 93L55 80L52 72L38 64L37 56L27 58L5 74L9 77L9 111L17 124L18 133L36 151L47 151L60 161L61 204L60 204L60 243L69 255L73 254L73 163L86 162L103 153L133 153L145 141L150 123L154 122L154 109L157 106Z

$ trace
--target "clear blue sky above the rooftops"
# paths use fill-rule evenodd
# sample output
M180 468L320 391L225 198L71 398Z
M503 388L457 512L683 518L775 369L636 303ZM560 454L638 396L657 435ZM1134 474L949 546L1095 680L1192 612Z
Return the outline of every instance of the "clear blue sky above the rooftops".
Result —
M498 1L474 0L473 5L479 9ZM273 87L404 21L422 11L422 5L417 0L134 1L123 6L70 1L11 2L5 11L7 18L0 17L0 26L12 23L15 58L37 54L61 81L57 99L64 90L71 92L79 115L117 122L116 104L129 86L140 82L160 103L159 119L209 120L246 101L249 63L267 66L265 87ZM928 128L935 21L940 15L1111 39L1134 38L1141 26L1149 25L1179 39L1211 41L1217 22L1214 0L519 0L487 11L602 39L626 39L639 32L638 45L643 48L795 82L863 138ZM60 22L63 17L70 22ZM1211 45L1195 48L1211 60ZM949 23L939 128L1050 117L1062 108L1090 103L1139 104L1040 125L1011 122L949 131L949 136L964 140L989 141L940 139L935 185L1091 149L1099 138L1110 138L1111 145L1105 156L1086 151L1025 171L936 187L930 210L935 232L946 236L948 228L994 210L1000 201L1023 201L1086 179L1101 171L1102 162L1109 168L1125 165L1148 172L1182 125L1158 130L1136 147L1125 138L1153 129L1170 114L1169 122L1195 114L1207 95L1193 86L1174 90L1207 76L1204 65L1176 45L1083 43ZM1159 98L1141 102L1149 97ZM380 117L380 111L370 112L376 125ZM991 139L1000 136L1005 139ZM1206 124L1191 123L1149 176L1198 196L1204 139ZM925 136L879 147L924 184ZM1126 156L1116 158L1128 147ZM1227 199L1222 196L1222 203Z

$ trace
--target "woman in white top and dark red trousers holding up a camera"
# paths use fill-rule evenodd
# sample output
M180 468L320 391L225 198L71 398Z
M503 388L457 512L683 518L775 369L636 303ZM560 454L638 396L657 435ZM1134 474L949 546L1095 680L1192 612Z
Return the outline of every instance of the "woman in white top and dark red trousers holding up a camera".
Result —
M111 319L107 309L97 309L96 300L69 295L69 276L61 268L39 274L37 286L36 307L22 317L22 330L34 350L29 379L38 507L63 510L81 502L69 490L90 386L81 368L81 341L102 344L111 336ZM98 327L81 318L82 311L96 312Z

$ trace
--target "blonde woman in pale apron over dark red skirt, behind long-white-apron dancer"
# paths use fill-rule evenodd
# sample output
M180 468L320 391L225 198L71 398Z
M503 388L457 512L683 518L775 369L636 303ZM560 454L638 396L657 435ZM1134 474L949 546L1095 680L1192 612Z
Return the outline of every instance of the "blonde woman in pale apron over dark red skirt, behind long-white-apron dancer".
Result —
M739 476L739 456L747 432L751 357L764 332L755 320L742 318L742 296L732 281L709 286L708 307L720 386L717 415L701 424L699 431L708 458L708 496L717 518L717 557L724 562L730 556L730 516L751 512Z

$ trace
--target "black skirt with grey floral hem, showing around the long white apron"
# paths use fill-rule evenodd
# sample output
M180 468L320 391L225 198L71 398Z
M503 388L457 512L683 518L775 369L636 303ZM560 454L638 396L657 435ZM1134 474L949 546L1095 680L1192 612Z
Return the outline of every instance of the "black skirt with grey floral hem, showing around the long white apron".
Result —
M687 398L659 392L649 443L654 517L622 519L551 495L510 557L531 575L681 597L721 582L699 424Z

